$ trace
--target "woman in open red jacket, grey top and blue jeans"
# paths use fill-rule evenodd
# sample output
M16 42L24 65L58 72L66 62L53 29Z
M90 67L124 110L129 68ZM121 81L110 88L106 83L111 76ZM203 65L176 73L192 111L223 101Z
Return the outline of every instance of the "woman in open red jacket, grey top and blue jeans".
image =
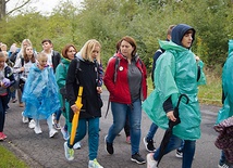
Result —
M119 62L115 67L115 62ZM106 68L103 83L110 92L113 124L105 137L106 151L112 155L113 141L130 121L131 160L145 164L139 155L142 101L147 98L146 66L137 54L136 41L125 36L120 40L120 50L111 57Z

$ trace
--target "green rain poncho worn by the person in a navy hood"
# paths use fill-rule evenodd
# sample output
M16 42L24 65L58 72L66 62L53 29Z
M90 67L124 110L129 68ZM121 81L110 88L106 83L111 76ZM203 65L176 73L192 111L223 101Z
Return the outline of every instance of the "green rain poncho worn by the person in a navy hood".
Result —
M173 107L180 94L189 99L180 103L181 124L173 128L173 134L183 140L200 138L200 111L197 100L198 85L206 83L206 78L200 70L197 81L198 65L203 69L203 62L196 62L194 53L172 41L159 41L165 52L158 59L155 70L156 89L143 103L143 109L149 118L162 129L168 128L169 119L163 111L163 102L171 96Z

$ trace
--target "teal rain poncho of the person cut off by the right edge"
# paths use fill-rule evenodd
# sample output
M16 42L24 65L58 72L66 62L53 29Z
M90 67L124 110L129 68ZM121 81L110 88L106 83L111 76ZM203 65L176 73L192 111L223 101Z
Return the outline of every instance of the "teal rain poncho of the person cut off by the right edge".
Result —
M222 72L224 103L218 113L217 124L233 116L233 40L229 40L229 56Z

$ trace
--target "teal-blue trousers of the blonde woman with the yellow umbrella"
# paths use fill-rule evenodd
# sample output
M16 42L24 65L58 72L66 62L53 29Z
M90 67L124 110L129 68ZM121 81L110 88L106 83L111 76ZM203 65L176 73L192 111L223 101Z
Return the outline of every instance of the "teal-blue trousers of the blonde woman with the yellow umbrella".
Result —
M74 144L76 142L79 142L86 135L87 128L88 128L89 160L94 160L95 158L97 158L97 152L99 146L99 118L87 118L87 119L84 118L78 120L78 127L76 130ZM70 139L68 140L68 146L70 148L73 147L73 145L70 145Z

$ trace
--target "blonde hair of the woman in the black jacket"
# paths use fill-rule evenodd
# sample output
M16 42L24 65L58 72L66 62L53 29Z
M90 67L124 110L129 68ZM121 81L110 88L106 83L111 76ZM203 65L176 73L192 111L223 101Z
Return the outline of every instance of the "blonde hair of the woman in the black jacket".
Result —
M101 49L101 44L96 39L88 40L84 47L81 49L81 55L84 60L88 60L90 62L94 62L94 59L91 57L93 51L96 47L99 47ZM100 64L100 52L98 53L96 57L97 62Z

